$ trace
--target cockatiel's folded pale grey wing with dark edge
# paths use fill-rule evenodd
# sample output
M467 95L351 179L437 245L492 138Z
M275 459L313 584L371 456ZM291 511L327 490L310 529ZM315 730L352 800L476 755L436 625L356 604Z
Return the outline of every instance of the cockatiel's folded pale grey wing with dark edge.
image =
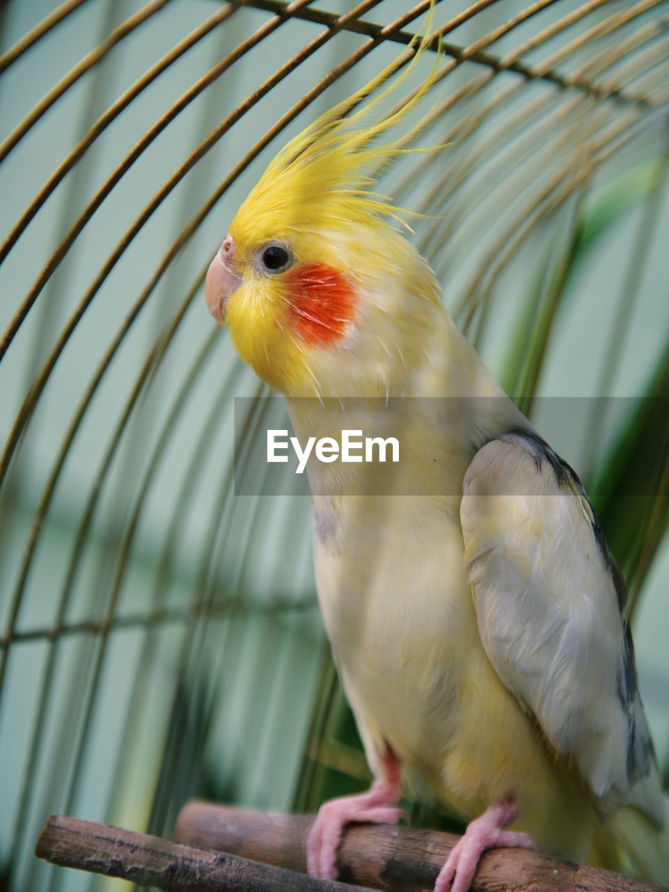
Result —
M461 525L495 671L604 811L636 805L661 826L624 582L578 477L532 431L504 434L469 466Z

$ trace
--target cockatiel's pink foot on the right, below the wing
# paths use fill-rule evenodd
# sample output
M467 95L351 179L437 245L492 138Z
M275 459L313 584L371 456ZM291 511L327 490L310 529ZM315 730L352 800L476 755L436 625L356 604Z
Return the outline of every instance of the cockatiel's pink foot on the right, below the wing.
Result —
M467 892L486 848L537 848L526 833L502 830L517 816L518 806L509 799L490 805L480 818L472 821L439 872L435 892Z

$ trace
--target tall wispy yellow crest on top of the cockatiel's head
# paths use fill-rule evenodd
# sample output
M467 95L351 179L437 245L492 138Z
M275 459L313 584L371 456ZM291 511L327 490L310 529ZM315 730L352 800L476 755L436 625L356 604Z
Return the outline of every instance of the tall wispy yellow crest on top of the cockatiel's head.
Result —
M417 90L404 96L394 111L368 121L379 103L412 75L434 39L426 35L416 40L364 87L290 140L237 212L230 228L237 244L288 240L295 233L308 241L310 232L332 233L360 225L383 229L410 214L370 187L398 155L418 151L406 145L420 132L427 116L395 139L378 140L400 124L435 84L441 54L436 54L428 78ZM379 95L349 114L386 82Z

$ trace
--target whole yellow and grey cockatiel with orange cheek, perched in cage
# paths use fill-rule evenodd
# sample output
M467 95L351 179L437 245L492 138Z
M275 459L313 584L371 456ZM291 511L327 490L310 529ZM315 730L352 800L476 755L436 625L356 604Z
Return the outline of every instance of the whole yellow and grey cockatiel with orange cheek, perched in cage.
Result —
M399 819L402 775L471 821L436 892L465 892L488 847L631 859L669 883L669 808L604 534L453 324L403 212L372 191L418 133L388 135L436 67L392 114L379 103L428 43L285 146L205 286L300 442L343 428L401 442L396 467L308 468L322 617L376 778L322 805L309 871L336 876L347 822Z

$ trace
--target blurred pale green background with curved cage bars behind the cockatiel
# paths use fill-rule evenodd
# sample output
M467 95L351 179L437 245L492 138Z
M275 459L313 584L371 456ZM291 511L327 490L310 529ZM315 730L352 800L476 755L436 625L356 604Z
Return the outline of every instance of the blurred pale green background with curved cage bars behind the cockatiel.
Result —
M266 392L203 277L273 154L426 7L0 4L0 888L114 885L37 862L49 814L168 836L189 797L368 783L308 498L235 495L234 398L243 455ZM421 140L449 148L380 191L427 215L448 309L583 476L667 780L669 9L445 0L435 26Z

